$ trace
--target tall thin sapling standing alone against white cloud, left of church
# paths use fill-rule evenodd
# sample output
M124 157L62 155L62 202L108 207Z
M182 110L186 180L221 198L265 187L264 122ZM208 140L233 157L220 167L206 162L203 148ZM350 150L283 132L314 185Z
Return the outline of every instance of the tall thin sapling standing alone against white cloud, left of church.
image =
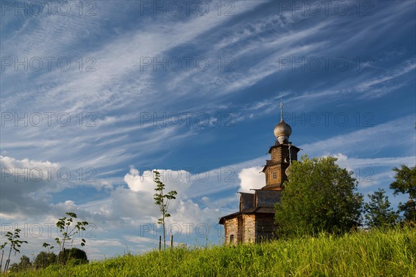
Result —
M155 178L153 181L156 183L155 188L155 195L153 199L155 199L155 204L159 206L160 213L162 214L162 217L157 220L158 224L161 224L163 226L163 244L164 249L166 249L166 228L165 228L165 219L166 217L170 217L171 215L168 213L168 206L169 202L171 202L171 199L176 199L175 195L177 195L176 190L171 190L168 192L167 195L163 194L163 190L165 188L165 185L160 181L160 173L156 170L153 171L155 174Z

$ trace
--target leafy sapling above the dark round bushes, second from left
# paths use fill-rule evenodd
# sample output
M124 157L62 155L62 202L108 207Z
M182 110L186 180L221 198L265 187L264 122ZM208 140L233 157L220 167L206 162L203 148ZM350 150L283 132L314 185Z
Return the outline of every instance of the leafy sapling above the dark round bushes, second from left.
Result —
M88 222L76 222L74 226L71 226L73 224L73 219L77 218L76 213L66 213L69 217L62 217L56 222L56 226L58 227L58 230L60 234L62 235L62 239L55 238L55 242L60 245L60 252L64 251L65 249L65 242L67 240L70 240L73 238L76 234L78 234L80 231L85 231L85 227L88 225ZM81 246L83 247L85 245L85 239L81 240ZM45 247L45 244L44 244ZM59 265L60 263L60 255L58 255L58 258L56 259L56 264Z

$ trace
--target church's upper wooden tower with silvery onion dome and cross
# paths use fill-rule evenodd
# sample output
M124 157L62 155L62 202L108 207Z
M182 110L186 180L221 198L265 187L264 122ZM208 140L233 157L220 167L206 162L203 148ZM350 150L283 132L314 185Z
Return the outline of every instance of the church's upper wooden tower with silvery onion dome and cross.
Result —
M283 103L280 102L280 123L275 126L275 145L271 146L268 153L270 160L266 160L262 172L266 175L266 186L262 190L282 190L283 183L288 179L288 168L292 161L297 161L297 152L300 148L289 141L292 128L283 120Z

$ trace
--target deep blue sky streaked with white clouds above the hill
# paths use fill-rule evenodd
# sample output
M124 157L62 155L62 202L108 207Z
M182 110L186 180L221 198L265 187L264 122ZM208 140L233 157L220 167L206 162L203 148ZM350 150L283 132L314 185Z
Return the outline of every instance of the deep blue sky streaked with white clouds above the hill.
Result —
M415 5L2 1L1 231L37 253L73 211L92 260L155 249L157 168L175 243L221 243L237 191L264 185L281 99L300 154L388 190L416 159Z

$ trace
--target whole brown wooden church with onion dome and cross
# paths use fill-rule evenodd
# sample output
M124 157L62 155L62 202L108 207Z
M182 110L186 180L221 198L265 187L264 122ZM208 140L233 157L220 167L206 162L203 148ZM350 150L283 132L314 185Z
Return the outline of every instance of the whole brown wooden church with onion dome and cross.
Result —
M283 120L283 104L280 104L281 120L275 126L275 145L268 151L263 172L266 186L254 193L240 193L240 211L220 217L225 229L225 244L261 242L275 238L275 204L279 202L283 183L288 179L288 168L297 161L300 148L289 141L292 128Z

